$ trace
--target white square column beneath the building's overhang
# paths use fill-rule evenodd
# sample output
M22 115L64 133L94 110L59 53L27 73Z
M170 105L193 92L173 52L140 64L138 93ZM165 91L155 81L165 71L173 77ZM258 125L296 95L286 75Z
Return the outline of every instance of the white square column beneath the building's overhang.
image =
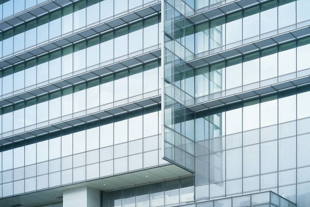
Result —
M87 186L66 190L63 207L100 207L100 191Z

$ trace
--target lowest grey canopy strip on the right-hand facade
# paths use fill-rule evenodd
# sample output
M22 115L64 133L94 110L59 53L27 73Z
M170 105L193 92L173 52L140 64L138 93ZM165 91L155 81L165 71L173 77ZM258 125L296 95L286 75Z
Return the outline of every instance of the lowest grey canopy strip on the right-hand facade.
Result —
M226 105L232 102L243 101L245 99L255 98L255 97L267 95L269 93L288 90L291 88L295 88L295 87L299 87L299 86L303 86L307 84L310 84L310 75L292 79L289 81L275 83L275 84L265 86L262 88L256 88L256 89L246 91L246 92L236 93L230 96L225 96L225 97L213 99L210 101L205 101L199 104L188 106L188 109L195 111L195 112L199 110L206 110L206 109L214 108L217 106L223 106L223 105Z

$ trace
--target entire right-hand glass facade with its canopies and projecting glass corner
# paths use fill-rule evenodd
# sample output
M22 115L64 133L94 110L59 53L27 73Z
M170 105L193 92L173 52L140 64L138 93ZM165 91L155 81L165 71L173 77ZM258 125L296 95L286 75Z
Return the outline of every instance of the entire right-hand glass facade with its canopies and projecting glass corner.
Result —
M164 1L164 159L195 172L193 206L269 190L308 206L309 83L265 89L308 79L309 33L280 41L308 30L308 1L229 2ZM246 200L235 206L280 206Z

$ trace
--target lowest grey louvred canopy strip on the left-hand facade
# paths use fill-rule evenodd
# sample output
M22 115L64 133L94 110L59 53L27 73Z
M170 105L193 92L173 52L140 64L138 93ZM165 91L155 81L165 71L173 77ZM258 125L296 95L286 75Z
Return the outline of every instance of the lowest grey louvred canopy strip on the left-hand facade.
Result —
M80 116L77 118L73 118L73 119L69 119L66 121L62 121L59 123L55 123L55 124L51 124L48 126L44 126L41 128L36 128L27 132L23 132L23 133L19 133L19 134L15 134L12 136L8 136L8 137L3 137L2 139L0 139L0 145L4 145L4 144L9 144L12 142L18 142L18 141L22 141L25 139L29 139L29 138L33 138L33 137L37 137L37 136L41 136L47 133L52 133L55 131L59 131L62 129L66 129L66 128L71 128L74 126L78 126L81 124L86 124L86 123L90 123L93 121L98 121L101 119L105 119L108 117L112 117L112 116L116 116L116 115L121 115L124 113L128 113L130 111L134 111L134 110L138 110L138 109L142 109L145 107L149 107L149 106L154 106L154 105L158 105L161 103L161 95L158 96L154 96L154 97L150 97L150 98L146 98L146 99L142 99L139 101L134 101L128 104L124 104L121 106L116 106L110 109L106 109L106 110L102 110L99 112L95 112L92 114L88 114L88 115L84 115L84 116Z

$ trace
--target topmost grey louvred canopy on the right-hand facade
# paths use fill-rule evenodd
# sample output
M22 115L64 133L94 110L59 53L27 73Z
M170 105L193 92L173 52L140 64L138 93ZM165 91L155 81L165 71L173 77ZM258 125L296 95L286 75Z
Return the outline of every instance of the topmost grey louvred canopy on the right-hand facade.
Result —
M199 12L192 16L188 16L188 20L193 22L194 24L199 24L205 21L209 21L221 16L225 16L235 11L239 11L245 9L247 7L252 7L258 5L261 2L267 2L270 0L239 0L231 3L223 4L221 6L215 7L213 9L209 9L209 7L204 8L206 11ZM212 5L210 5L212 6Z

